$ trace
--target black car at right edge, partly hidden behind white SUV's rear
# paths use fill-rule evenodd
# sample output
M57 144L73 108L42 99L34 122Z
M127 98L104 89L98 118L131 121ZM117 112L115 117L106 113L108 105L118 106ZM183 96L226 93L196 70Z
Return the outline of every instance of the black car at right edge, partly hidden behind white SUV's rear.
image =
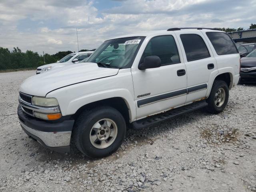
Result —
M241 58L240 82L256 82L256 49Z

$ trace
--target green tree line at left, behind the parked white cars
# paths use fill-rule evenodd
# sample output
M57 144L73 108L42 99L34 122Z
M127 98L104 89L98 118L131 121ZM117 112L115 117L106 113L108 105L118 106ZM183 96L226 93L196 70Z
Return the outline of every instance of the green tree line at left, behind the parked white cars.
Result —
M88 51L82 49L79 52ZM0 70L19 69L19 68L36 68L44 64L55 63L64 56L73 53L72 51L59 51L56 54L39 55L37 52L27 50L22 52L20 48L14 47L12 51L8 48L0 47ZM44 63L45 60L45 63Z

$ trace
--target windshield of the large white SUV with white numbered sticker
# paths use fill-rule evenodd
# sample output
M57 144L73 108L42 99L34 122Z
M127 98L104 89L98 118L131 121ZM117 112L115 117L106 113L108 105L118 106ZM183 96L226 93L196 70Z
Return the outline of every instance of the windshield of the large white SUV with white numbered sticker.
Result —
M118 38L105 41L86 62L97 63L99 67L130 67L144 37Z

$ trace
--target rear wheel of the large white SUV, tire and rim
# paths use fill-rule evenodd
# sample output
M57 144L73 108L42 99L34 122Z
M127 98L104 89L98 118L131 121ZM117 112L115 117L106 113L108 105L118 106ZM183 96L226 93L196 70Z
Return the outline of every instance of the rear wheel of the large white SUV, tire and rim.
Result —
M229 90L226 82L215 80L212 85L210 96L206 100L208 111L217 114L222 112L228 103Z

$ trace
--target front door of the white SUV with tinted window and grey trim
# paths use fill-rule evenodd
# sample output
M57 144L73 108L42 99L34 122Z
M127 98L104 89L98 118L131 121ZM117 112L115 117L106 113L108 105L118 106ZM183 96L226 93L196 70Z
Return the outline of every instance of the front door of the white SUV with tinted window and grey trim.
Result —
M146 56L159 56L162 66L139 70L133 64L132 79L137 119L180 106L186 101L187 73L180 47L173 35L149 40L140 62Z

